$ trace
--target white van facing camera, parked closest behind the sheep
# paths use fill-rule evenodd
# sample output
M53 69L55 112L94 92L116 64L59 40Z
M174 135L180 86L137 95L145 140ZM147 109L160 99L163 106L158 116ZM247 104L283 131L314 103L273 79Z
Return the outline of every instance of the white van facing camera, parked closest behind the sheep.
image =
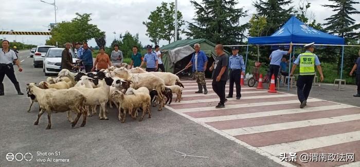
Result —
M49 73L59 73L61 70L61 53L65 48L50 48L44 58L43 63L43 71L45 73L45 76L48 76ZM73 50L70 49L71 57L73 57L73 64L77 60L79 60Z

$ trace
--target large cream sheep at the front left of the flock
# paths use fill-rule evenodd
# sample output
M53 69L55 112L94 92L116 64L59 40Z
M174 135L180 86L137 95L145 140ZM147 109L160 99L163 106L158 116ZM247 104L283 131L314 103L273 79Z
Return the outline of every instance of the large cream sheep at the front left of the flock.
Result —
M34 122L34 125L38 125L41 115L47 112L48 124L46 129L50 129L51 112L67 112L69 110L77 113L75 121L71 122L71 127L77 124L81 115L83 115L81 127L86 124L86 110L84 109L85 97L78 90L41 89L34 83L29 83L27 86L30 94L37 98L41 108L38 119Z

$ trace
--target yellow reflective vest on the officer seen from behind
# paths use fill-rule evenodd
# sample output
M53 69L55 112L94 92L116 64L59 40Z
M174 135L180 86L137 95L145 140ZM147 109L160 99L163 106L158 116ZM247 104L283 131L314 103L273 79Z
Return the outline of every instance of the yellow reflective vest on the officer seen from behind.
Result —
M315 54L311 52L301 53L300 57L300 75L315 75Z

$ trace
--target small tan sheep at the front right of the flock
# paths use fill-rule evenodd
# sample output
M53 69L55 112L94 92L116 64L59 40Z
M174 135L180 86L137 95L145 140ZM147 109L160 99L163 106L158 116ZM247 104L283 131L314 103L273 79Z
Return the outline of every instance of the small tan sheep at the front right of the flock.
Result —
M118 118L121 123L125 122L126 113L129 113L133 119L136 119L138 108L142 108L142 116L139 121L142 121L145 113L148 113L149 118L151 118L149 94L139 92L136 95L124 95L123 92L115 90L112 98L120 104Z

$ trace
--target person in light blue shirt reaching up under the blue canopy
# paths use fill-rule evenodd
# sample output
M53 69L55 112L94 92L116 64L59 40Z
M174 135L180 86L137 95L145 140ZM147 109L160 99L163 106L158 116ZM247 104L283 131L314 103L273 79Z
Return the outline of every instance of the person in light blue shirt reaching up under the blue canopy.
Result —
M289 51L284 51L284 46L279 46L278 50L274 50L270 54L270 78L274 75L275 76L275 85L277 84L277 77L280 70L280 62L283 55L290 54L293 50L293 44L290 44Z

